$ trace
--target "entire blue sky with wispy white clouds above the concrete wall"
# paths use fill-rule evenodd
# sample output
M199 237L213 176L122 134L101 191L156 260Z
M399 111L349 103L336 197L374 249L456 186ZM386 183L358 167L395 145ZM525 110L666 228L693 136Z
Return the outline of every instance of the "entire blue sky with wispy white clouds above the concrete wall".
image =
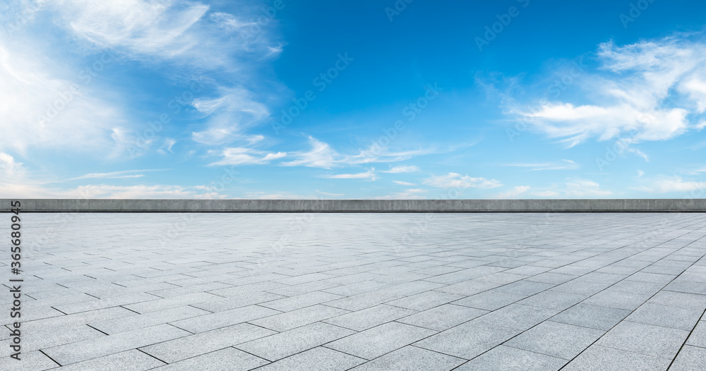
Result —
M705 11L10 0L0 197L704 197Z

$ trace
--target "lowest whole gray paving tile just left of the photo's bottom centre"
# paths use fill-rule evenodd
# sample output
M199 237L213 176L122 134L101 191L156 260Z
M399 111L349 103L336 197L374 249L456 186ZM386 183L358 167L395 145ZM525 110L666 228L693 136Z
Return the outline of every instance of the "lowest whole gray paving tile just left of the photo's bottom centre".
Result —
M307 349L316 348L350 334L354 334L354 332L333 324L316 322L280 332L279 334L241 343L235 347L266 360L275 361Z

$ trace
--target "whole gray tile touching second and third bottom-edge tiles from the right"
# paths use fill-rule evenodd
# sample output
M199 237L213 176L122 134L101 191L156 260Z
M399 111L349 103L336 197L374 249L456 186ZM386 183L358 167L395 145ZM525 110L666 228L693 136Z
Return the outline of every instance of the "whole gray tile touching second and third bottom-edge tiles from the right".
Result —
M602 330L545 321L503 345L571 360L605 333Z

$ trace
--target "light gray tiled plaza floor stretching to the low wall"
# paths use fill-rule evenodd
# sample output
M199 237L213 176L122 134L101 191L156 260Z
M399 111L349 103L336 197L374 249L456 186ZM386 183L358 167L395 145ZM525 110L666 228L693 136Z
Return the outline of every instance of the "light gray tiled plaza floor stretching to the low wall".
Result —
M706 214L22 218L0 370L706 370Z

